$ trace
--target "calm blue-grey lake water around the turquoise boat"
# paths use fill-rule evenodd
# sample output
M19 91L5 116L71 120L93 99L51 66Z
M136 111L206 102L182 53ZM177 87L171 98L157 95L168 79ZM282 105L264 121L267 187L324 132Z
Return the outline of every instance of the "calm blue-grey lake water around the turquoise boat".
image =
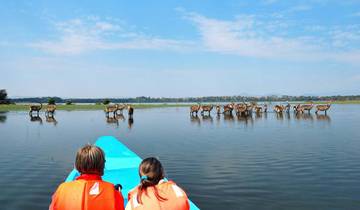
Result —
M191 118L188 108L57 111L46 121L0 113L1 209L47 209L76 150L113 135L167 176L201 209L360 209L360 105L328 115L275 113Z

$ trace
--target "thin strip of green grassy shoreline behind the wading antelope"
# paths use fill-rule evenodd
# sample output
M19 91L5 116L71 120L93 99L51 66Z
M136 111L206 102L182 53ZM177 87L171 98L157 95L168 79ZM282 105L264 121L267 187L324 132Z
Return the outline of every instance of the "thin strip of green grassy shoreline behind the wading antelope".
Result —
M269 102L266 102L269 103ZM285 102L271 102L272 104L276 103L285 103ZM291 104L304 103L304 102L290 102ZM305 102L309 103L309 102ZM314 101L314 104L325 104L326 101ZM36 103L35 103L36 104ZM194 103L196 104L196 103ZM201 104L218 104L218 102L203 102ZM360 104L360 100L345 100L345 101L333 101L332 104ZM47 105L44 104L43 108ZM73 110L104 110L106 105L103 104L59 104L56 106L57 110L73 111ZM169 108L169 107L189 107L190 103L162 103L162 104L151 104L151 103L140 103L132 104L135 109L149 109L149 108ZM1 104L0 111L27 111L29 110L29 104Z

